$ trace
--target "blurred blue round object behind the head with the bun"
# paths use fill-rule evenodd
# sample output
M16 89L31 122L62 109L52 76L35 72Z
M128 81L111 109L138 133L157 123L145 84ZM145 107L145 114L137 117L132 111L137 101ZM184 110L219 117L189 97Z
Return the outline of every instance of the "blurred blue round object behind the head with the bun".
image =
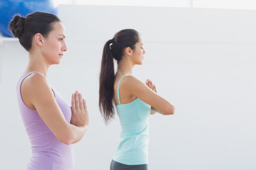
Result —
M0 1L0 34L3 37L12 37L8 29L13 15L25 17L32 12L47 12L57 15L57 7L53 0L1 0Z

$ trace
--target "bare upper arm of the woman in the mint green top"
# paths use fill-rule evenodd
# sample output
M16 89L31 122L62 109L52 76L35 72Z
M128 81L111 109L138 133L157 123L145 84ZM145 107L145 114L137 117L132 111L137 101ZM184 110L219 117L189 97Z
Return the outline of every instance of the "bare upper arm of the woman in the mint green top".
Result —
M156 108L161 114L172 115L174 113L174 106L168 100L155 93L139 79L133 76L127 76L125 83L131 95L138 97L153 108Z

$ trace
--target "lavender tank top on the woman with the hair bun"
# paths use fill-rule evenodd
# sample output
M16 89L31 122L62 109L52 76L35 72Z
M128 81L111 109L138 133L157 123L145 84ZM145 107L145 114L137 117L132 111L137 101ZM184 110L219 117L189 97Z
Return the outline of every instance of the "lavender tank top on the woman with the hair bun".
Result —
M72 144L66 145L58 141L38 115L38 112L28 108L22 100L20 86L22 81L32 73L37 72L30 72L23 75L17 84L18 107L31 142L32 150L27 170L74 170L74 152ZM69 104L52 85L51 87L56 102L61 108L65 119L70 123L72 113Z

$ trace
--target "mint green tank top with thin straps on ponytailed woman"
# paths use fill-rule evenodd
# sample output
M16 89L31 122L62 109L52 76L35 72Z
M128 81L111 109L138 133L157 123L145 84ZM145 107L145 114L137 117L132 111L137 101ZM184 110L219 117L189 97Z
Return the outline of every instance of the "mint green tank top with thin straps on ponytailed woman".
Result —
M121 104L119 84L124 76L121 77L117 85L119 104L116 109L121 124L121 134L113 160L126 165L148 164L148 116L151 106L139 98L130 103Z

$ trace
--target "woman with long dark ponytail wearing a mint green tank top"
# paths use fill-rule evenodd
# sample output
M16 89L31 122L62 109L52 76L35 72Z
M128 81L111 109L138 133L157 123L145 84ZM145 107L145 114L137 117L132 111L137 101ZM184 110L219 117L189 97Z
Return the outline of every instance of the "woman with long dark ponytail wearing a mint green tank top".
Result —
M145 53L142 38L133 29L117 32L103 48L99 108L106 124L114 118L116 108L121 124L110 170L148 170L148 116L174 114L174 106L157 94L149 79L143 83L132 75L133 66L142 64Z

